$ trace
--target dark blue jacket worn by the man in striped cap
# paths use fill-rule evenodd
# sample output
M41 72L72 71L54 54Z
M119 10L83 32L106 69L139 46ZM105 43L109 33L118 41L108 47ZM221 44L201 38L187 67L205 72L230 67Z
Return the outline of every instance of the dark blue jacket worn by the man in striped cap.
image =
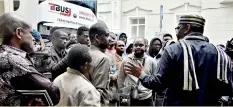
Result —
M192 33L188 36L202 36ZM214 45L200 39L186 40L192 47L198 90L184 91L184 56L180 42L165 49L159 62L157 74L140 75L143 86L155 91L168 88L166 106L215 106L221 96L231 93L231 64L227 65L228 84L217 79L217 50ZM230 60L230 59L229 59ZM223 63L225 64L225 63Z

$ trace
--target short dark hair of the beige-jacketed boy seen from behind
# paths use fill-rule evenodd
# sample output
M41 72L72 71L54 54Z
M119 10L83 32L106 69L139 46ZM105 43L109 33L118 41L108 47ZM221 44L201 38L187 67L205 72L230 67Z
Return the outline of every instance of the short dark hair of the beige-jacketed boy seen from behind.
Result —
M72 69L80 70L86 62L92 61L89 49L86 45L75 44L68 52L68 66Z

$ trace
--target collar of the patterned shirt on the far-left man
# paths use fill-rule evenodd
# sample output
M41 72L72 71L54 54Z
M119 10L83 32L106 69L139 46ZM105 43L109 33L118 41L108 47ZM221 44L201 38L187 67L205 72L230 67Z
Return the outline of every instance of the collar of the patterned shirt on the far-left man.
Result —
M7 52L10 52L10 53L13 53L16 55L20 55L21 57L26 58L27 52L25 52L21 49L18 49L16 47L9 46L9 45L2 45L2 48Z

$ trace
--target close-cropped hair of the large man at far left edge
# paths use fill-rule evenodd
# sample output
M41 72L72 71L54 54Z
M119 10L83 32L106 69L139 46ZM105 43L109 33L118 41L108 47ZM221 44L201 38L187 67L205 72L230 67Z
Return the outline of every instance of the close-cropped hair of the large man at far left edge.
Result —
M0 38L2 44L8 44L17 28L29 29L30 25L23 18L14 13L4 13L0 16Z

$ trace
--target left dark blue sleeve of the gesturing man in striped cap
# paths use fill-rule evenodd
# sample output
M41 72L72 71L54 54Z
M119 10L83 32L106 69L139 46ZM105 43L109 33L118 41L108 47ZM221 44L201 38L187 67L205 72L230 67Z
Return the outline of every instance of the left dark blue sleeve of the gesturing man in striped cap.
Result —
M171 68L171 57L165 49L162 58L158 64L156 74L146 75L144 72L140 75L139 79L142 85L152 90L162 90L168 83L168 75Z

